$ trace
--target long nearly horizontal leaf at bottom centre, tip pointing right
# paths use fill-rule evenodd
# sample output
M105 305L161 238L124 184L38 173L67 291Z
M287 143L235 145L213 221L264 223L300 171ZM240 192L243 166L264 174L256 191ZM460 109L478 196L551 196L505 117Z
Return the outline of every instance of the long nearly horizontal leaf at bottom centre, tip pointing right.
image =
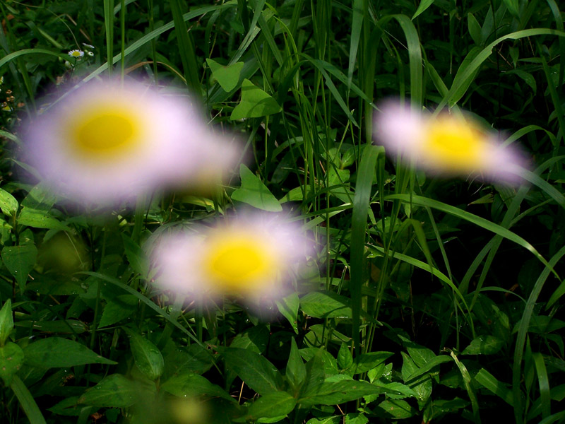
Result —
M313 405L337 405L355 401L368 394L378 394L381 389L368 382L343 380L323 383L301 394L298 403L304 407Z

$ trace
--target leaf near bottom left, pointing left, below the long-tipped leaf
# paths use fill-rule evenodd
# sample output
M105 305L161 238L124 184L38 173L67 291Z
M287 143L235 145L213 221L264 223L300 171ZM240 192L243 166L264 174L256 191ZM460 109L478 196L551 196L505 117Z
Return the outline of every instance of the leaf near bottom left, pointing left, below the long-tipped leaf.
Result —
M88 389L78 399L79 404L127 408L136 403L138 383L121 374L112 374Z

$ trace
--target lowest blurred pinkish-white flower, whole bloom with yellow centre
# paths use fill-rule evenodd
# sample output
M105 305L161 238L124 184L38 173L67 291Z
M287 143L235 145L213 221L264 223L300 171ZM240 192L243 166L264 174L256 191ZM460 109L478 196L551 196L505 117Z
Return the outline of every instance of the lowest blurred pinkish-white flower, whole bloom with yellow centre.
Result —
M161 236L151 257L155 284L165 290L203 302L232 295L253 305L283 297L292 264L309 254L311 244L299 225L251 214Z

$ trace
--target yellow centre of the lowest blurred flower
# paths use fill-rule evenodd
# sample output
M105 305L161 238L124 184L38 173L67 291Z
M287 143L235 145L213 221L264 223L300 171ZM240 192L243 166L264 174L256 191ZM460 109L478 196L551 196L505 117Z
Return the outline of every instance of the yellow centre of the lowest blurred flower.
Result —
M278 260L266 240L228 231L210 237L205 248L203 266L215 292L254 293L276 278Z

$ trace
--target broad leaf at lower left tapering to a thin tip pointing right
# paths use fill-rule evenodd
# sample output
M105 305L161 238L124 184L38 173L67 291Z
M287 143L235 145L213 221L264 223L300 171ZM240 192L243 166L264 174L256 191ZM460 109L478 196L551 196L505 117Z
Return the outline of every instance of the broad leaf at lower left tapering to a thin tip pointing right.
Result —
M32 367L73 367L84 364L115 365L89 348L61 337L48 337L30 343L23 349L25 363Z

